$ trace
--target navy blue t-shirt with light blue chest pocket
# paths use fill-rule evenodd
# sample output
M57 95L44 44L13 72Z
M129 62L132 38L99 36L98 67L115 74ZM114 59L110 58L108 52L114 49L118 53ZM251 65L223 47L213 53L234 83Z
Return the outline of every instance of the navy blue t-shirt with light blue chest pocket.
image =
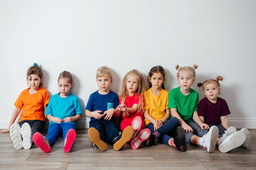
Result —
M87 103L88 111L102 111L101 115L104 114L104 111L108 111L111 108L116 108L119 105L119 99L116 93L113 91L109 91L108 94L99 94L98 91L92 93L89 97L89 101ZM96 120L95 118L91 118L91 121ZM104 118L101 118L104 120ZM113 116L111 118L113 121Z

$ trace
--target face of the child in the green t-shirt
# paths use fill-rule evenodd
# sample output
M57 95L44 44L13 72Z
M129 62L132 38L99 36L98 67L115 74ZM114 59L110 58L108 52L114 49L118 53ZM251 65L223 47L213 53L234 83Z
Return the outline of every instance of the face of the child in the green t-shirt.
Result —
M194 83L195 79L191 76L191 74L189 74L189 72L180 72L178 81L180 88L184 91L188 91Z

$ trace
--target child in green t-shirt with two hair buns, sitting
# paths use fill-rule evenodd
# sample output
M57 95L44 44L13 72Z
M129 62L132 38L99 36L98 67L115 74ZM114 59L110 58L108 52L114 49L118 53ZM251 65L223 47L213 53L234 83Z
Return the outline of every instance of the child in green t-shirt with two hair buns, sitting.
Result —
M196 80L194 71L196 68L197 65L194 67L179 67L177 65L179 87L169 91L168 108L170 108L172 117L178 118L180 125L184 128L186 142L201 145L207 152L213 152L216 147L218 128L213 126L209 129L197 114L199 94L191 89Z

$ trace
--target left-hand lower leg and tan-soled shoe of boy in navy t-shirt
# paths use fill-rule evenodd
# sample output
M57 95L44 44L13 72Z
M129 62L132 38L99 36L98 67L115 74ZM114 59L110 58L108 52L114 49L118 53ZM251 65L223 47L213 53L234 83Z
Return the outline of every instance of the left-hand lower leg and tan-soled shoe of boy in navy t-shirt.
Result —
M105 137L104 137L104 127L103 127L102 121L94 120L94 121L90 122L89 124L90 124L90 128L88 130L88 135L89 135L91 142L93 142L93 146L95 148L101 149L101 151L106 151L108 146L104 142Z

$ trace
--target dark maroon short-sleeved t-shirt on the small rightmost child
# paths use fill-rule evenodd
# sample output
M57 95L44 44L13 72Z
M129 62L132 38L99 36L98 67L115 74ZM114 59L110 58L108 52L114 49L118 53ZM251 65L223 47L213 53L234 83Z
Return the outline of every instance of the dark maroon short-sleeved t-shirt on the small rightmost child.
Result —
M229 115L228 104L223 98L217 98L216 103L211 103L207 98L199 102L198 114L204 117L204 123L221 125L221 116Z

